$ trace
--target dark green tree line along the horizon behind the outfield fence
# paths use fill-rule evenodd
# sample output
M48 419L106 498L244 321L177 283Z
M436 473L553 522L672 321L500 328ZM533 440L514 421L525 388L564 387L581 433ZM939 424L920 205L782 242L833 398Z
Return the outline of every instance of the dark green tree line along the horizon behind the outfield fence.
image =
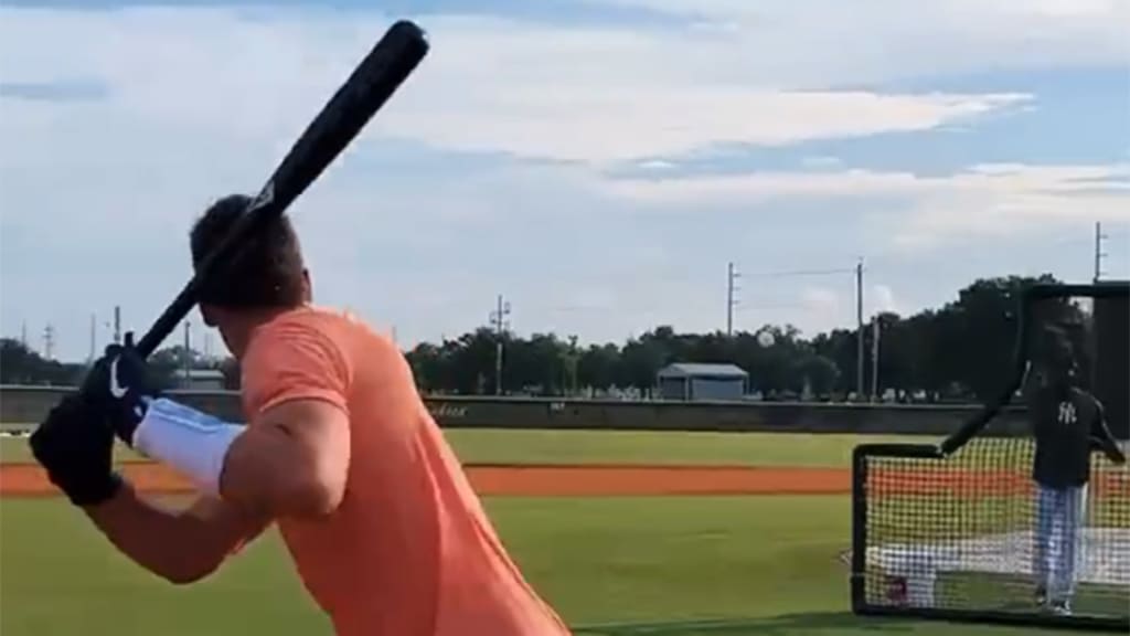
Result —
M994 395L1011 371L1018 301L1033 283L1055 283L1050 275L981 278L942 307L910 316L879 313L863 329L864 395L898 399L983 399ZM1077 311L1061 303L1062 311ZM1078 317L1076 317L1078 318ZM762 332L773 335L758 338ZM878 385L872 384L878 332ZM833 329L806 338L792 325L766 325L755 332L679 333L658 326L624 343L581 345L576 337L532 334L521 337L480 327L442 343L420 343L406 353L421 390L435 394L541 396L647 396L655 375L672 362L732 363L750 377L750 389L766 398L851 399L858 387L857 329ZM498 345L502 377L496 373ZM186 360L188 358L188 360ZM211 367L224 371L225 386L238 388L234 360L206 361L177 345L154 354L166 386L177 369ZM3 384L79 381L84 364L44 360L18 341L0 347ZM501 387L498 381L501 379Z

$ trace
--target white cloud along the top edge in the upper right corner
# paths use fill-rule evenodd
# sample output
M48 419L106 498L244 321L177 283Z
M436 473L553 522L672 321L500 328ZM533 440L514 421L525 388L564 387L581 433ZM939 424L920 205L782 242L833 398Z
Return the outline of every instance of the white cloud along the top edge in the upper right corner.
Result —
M723 25L746 72L840 85L1008 68L1124 66L1124 0L605 0ZM767 54L766 52L772 52Z

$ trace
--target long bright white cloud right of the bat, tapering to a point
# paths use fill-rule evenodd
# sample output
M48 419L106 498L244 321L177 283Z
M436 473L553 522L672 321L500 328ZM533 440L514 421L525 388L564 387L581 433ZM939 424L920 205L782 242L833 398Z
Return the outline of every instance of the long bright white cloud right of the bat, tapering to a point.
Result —
M514 101L504 94L497 98L496 108L489 109L496 115L490 126L476 126L483 113L417 110L402 130L446 148L605 164L681 155L728 141L783 145L928 130L1027 96L780 93L711 86L684 91L673 84L634 85L625 75L610 77L608 86L596 91L585 87L570 94L566 87L538 86Z

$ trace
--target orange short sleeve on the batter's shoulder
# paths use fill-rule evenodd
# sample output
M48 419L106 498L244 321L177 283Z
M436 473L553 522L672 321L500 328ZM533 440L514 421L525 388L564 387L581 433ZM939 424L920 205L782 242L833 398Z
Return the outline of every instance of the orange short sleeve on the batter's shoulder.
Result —
M292 399L321 399L348 411L348 364L316 324L290 320L262 327L241 367L249 420Z

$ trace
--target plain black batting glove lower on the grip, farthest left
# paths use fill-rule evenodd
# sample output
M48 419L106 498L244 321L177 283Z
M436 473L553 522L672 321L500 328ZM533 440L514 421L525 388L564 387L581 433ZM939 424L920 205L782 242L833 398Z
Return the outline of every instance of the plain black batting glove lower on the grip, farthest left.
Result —
M96 506L121 488L113 471L114 431L81 394L55 405L29 441L35 461L71 504Z

